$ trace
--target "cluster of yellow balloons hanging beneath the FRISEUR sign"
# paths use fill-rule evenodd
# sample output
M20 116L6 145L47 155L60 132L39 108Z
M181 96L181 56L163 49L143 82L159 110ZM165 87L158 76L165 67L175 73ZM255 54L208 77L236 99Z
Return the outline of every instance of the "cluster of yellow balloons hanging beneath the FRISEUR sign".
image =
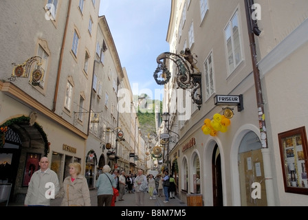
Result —
M225 133L228 131L228 126L231 124L229 118L225 118L225 115L215 113L213 119L206 118L201 130L205 135L217 136L218 132Z

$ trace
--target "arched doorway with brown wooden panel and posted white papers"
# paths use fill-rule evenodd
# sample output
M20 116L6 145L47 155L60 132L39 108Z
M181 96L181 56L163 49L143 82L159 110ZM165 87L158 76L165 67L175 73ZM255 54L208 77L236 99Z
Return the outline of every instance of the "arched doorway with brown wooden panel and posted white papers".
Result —
M239 146L239 179L241 206L267 206L265 176L261 142L253 131L245 134ZM261 195L252 197L254 186L259 183ZM258 192L258 193L259 193Z

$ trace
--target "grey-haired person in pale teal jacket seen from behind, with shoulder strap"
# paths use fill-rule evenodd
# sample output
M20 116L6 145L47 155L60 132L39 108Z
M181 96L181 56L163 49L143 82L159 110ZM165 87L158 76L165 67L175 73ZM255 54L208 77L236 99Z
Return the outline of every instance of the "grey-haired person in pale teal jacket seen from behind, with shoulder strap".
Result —
M99 175L96 181L98 188L98 206L111 206L113 199L113 188L116 188L115 178L110 174L110 166L104 165L102 174Z

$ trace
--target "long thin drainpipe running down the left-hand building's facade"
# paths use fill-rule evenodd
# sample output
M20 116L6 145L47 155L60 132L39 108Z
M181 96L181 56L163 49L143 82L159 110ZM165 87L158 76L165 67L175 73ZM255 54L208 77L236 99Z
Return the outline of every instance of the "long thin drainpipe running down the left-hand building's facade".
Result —
M65 21L65 30L64 30L64 34L63 34L63 40L62 40L61 54L60 54L60 58L59 58L58 75L56 77L56 90L54 91L54 107L52 108L52 111L56 111L56 100L58 98L58 88L59 88L59 82L60 82L60 78L61 78L62 59L63 59L63 53L64 53L64 47L65 47L67 27L68 27L68 24L69 24L69 14L71 13L71 5L72 5L72 0L69 0L69 6L67 8L67 17L66 17L66 21Z

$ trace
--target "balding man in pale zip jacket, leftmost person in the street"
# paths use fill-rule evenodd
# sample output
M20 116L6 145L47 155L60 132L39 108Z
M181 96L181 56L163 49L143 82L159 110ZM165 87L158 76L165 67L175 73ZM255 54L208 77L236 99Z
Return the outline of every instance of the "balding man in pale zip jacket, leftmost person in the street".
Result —
M39 161L40 169L36 170L29 182L25 206L50 206L60 190L58 175L48 168L49 160L42 157Z

